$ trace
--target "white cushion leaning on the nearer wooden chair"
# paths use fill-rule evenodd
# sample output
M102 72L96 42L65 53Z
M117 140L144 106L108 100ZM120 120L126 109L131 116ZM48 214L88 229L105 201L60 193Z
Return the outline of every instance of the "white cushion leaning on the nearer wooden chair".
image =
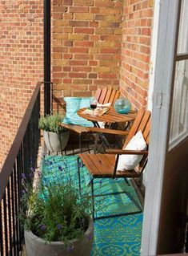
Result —
M142 135L142 132L137 132L130 142L126 145L127 150L146 150L146 141ZM118 159L118 171L132 170L142 160L143 155L121 155Z

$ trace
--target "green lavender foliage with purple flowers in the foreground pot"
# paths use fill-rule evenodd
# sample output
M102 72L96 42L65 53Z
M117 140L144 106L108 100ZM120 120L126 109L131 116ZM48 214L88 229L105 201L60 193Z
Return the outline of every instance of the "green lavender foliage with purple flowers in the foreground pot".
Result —
M46 242L61 241L66 246L71 246L70 240L82 238L89 224L91 201L80 195L71 180L41 183L34 190L23 178L22 186L19 219L26 230Z

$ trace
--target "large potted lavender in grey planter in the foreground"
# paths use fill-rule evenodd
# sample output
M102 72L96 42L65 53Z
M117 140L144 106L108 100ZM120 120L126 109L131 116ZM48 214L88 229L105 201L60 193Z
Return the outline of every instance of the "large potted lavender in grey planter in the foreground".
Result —
M59 179L58 179L59 180ZM27 256L89 256L94 235L90 198L70 181L41 182L32 189L22 174L22 209Z

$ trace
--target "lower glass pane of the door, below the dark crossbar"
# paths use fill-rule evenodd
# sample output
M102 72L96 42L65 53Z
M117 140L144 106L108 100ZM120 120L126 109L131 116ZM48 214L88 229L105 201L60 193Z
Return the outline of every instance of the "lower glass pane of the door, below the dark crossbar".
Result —
M188 59L176 63L170 146L188 135Z

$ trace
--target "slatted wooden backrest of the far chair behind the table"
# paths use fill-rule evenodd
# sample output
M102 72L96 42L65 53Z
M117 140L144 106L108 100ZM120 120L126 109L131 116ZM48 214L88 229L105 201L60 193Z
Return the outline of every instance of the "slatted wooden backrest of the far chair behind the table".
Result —
M115 101L118 100L120 95L120 91L115 90L112 87L109 88L98 88L96 91L94 97L98 100L98 103L100 104L106 104L111 103L111 105L114 105Z

